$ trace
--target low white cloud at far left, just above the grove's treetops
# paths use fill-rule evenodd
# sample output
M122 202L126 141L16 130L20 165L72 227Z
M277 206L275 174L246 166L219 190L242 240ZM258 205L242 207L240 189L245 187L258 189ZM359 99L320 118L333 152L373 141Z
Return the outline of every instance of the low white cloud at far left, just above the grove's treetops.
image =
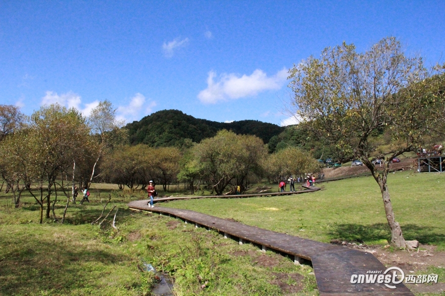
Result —
M78 94L75 94L71 91L58 95L53 91L46 91L45 97L42 98L41 106L51 105L51 104L59 104L60 106L64 106L67 108L75 108L82 112L84 116L88 116L91 112L91 109L96 107L99 102L94 101L92 103L84 104L84 108L81 108L82 98Z

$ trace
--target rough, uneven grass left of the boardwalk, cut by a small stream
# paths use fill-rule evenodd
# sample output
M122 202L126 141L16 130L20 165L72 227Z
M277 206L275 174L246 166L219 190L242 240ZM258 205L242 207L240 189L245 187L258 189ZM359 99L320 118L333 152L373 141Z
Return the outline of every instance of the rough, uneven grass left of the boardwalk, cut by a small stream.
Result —
M111 192L105 213L119 208L118 230L110 227L114 212L104 227L91 225L110 194L108 185L98 187L106 188L91 190L90 203L71 205L63 225L39 224L30 196L15 209L10 195L0 193L0 295L151 295L154 274L144 263L173 276L176 295L278 296L285 293L282 281L301 285L298 295L317 295L310 266L173 218L131 212L126 203L144 192ZM58 217L64 203L56 204ZM282 274L289 278L279 281Z

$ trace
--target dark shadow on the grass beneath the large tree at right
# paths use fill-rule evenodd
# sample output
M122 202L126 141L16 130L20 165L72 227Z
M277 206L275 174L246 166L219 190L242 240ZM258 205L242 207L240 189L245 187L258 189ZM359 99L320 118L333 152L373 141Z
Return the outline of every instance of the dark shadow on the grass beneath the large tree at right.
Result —
M426 227L416 224L401 226L405 240L418 240L421 244L445 246L445 234L438 227ZM391 241L391 230L386 223L339 224L328 232L331 239L357 242Z

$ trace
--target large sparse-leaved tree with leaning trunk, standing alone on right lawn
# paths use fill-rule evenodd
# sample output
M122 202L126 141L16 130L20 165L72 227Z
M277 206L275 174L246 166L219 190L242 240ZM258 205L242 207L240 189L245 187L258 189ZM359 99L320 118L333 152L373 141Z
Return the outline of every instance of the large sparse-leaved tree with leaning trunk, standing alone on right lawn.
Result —
M326 48L319 59L311 56L289 73L294 93L290 110L324 144L352 153L366 165L380 187L391 244L405 248L387 185L389 164L416 149L445 122L444 95L437 87L428 95L429 74L422 60L406 57L400 42L386 37L364 53L345 42ZM385 159L379 173L372 163L375 147L369 139L382 127L389 129L397 145L376 157Z

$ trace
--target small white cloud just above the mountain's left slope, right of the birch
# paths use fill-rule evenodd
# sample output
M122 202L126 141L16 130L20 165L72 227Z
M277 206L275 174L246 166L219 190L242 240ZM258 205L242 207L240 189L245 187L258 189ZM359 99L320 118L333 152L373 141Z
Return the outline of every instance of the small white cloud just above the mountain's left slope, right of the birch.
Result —
M140 119L142 116L151 113L156 102L146 102L144 95L137 93L127 106L119 106L117 109L117 119L131 122Z

